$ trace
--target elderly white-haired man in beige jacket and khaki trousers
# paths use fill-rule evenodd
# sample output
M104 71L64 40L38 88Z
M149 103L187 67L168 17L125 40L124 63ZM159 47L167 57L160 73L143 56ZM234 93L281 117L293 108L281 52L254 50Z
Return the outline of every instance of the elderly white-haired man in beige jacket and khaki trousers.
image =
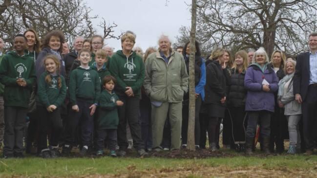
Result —
M153 149L162 150L163 128L167 117L171 127L171 150L181 144L182 101L188 90L188 74L183 56L175 53L168 36L159 38L159 50L145 63L144 87L152 103Z

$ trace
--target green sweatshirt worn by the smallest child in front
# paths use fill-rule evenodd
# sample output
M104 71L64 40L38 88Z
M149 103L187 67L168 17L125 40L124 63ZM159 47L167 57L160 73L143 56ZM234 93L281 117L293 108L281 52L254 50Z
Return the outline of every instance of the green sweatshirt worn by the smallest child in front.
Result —
M101 92L98 114L98 129L117 129L119 117L117 111L118 96L106 90Z

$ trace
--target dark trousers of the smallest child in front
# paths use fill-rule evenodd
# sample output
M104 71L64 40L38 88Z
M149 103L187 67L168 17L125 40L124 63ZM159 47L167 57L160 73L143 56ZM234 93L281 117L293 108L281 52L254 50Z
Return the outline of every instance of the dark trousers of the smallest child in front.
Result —
M117 129L98 129L97 132L97 150L102 150L105 147L105 139L109 150L116 150L117 145Z

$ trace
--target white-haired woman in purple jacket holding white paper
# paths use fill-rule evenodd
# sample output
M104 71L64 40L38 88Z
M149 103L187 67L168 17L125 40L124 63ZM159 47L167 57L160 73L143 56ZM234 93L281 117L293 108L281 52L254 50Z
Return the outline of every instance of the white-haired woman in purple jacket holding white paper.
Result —
M268 55L260 47L254 54L253 63L248 67L244 86L248 90L246 111L248 112L248 127L246 131L246 153L252 154L256 125L260 124L260 134L263 139L263 151L270 153L270 118L274 112L274 92L278 89L278 78L268 65Z

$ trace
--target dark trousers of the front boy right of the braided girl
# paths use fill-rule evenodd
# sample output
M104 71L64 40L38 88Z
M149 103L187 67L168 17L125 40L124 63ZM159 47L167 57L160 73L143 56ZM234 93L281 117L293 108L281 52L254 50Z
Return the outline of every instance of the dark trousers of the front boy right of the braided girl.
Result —
M77 134L77 126L81 126L81 140L83 146L90 146L91 145L91 138L94 129L94 121L93 116L90 116L90 109L89 107L93 103L86 102L82 99L77 99L77 105L79 107L79 112L74 110L69 111L69 117L67 120L67 136L65 138L65 144L70 145L74 144L75 136Z

